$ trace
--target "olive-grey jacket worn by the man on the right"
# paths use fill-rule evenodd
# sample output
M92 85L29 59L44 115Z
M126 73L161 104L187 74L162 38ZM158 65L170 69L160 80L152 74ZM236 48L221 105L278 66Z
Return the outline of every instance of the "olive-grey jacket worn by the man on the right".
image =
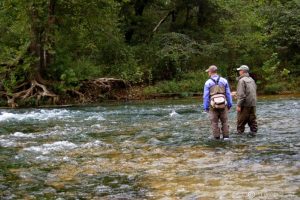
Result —
M237 105L240 107L256 106L256 84L248 73L239 77L237 86Z

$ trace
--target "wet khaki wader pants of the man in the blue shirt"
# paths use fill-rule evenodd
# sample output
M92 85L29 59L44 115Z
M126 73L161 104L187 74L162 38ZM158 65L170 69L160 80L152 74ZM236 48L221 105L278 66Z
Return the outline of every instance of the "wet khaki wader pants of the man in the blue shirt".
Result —
M209 109L209 119L211 122L211 128L215 138L220 137L219 120L222 125L223 137L229 136L229 125L228 125L228 109Z

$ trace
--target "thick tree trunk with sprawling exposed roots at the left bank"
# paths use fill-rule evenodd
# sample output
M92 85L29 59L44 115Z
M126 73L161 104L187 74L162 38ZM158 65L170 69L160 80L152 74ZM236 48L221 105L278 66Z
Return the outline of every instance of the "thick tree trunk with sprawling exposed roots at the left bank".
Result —
M36 98L37 103L41 97L51 98L53 102L58 100L58 96L47 89L47 82L43 79L43 73L48 66L48 51L45 48L49 46L50 32L54 24L54 10L56 0L49 0L49 8L46 23L43 22L43 16L40 16L39 8L34 4L28 9L30 18L30 45L29 54L33 57L31 64L30 76L20 86L16 87L16 92L7 94L7 102L11 107L17 107L16 99ZM45 18L44 18L45 19ZM21 91L19 91L21 89Z

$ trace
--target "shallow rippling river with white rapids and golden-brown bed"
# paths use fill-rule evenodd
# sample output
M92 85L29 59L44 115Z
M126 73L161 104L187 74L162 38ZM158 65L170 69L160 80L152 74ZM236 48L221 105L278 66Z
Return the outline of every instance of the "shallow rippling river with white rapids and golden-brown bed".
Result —
M226 142L200 104L1 109L0 199L300 199L299 98L260 100L257 137Z

